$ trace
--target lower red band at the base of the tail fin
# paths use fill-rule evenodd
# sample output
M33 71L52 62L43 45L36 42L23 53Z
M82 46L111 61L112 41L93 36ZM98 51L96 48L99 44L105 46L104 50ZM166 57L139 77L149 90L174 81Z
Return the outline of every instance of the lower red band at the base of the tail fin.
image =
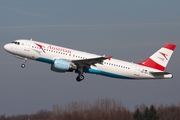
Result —
M164 69L165 69L165 67L157 64L157 63L154 62L151 58L148 58L148 59L145 60L144 62L138 63L138 64L139 64L139 65L142 65L142 66L154 68L154 69L157 69L157 70L161 70L161 71L164 71Z

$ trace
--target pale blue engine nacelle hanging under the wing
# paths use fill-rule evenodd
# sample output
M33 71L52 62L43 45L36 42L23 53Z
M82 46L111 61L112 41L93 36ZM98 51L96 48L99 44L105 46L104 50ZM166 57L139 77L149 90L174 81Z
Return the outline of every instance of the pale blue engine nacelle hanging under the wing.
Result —
M55 72L72 72L75 69L77 69L75 64L61 59L55 59L51 65L51 70Z

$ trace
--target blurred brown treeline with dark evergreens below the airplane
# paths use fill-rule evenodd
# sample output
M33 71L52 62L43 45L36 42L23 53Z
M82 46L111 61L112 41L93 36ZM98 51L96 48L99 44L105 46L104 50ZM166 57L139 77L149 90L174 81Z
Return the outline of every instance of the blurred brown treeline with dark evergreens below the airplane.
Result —
M120 101L98 99L69 102L65 106L53 105L52 111L40 110L35 114L0 116L0 120L180 120L180 103L176 105L141 104L132 112Z

